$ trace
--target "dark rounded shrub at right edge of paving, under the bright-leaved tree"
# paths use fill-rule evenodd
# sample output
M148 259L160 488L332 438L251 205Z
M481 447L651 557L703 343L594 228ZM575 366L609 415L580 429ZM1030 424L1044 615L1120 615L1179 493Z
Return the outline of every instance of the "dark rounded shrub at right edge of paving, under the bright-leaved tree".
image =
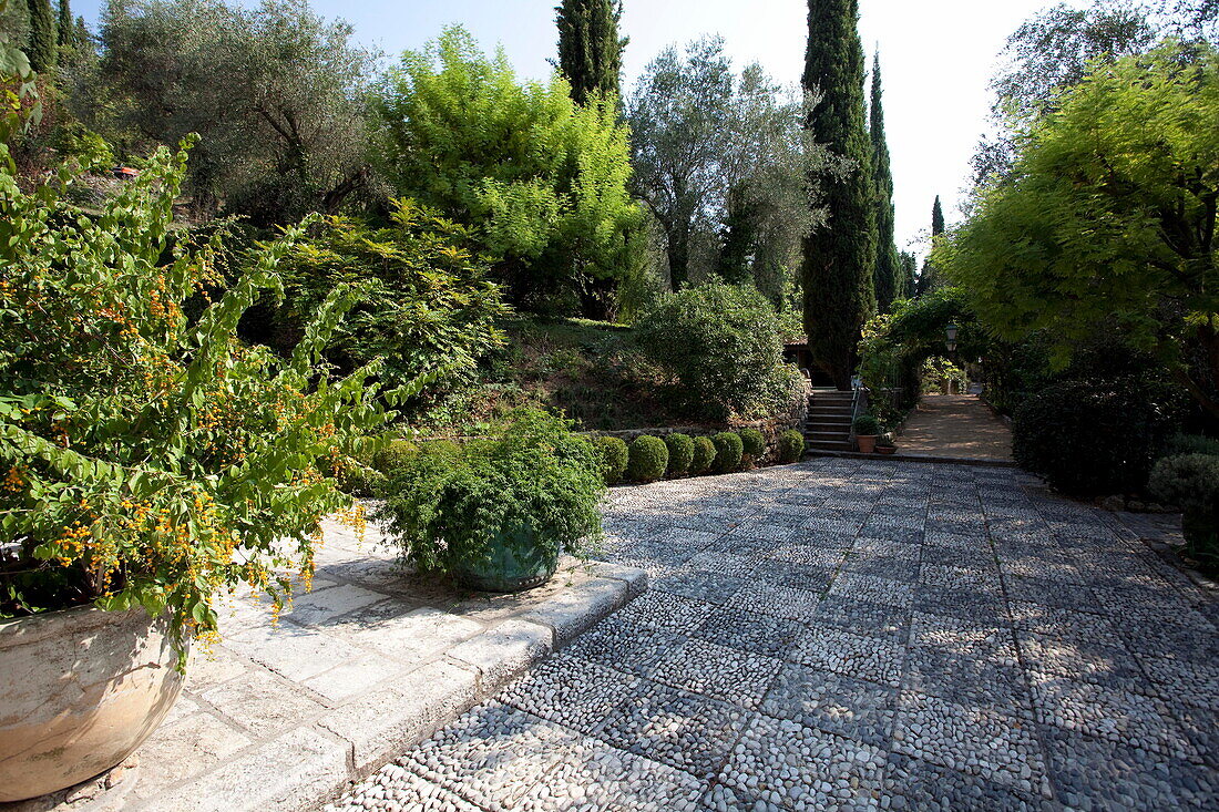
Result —
M1165 400L1139 379L1064 380L1017 408L1012 452L1064 494L1139 493L1173 418Z

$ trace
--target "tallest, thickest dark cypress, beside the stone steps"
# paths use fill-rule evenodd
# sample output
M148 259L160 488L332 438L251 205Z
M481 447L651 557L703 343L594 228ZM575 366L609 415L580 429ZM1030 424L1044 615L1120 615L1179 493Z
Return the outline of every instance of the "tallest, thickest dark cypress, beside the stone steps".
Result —
M805 329L813 361L835 385L851 385L861 329L875 311L876 206L872 144L863 104L858 0L808 0L803 87L820 102L806 123L812 137L857 167L819 176L829 223L805 238Z

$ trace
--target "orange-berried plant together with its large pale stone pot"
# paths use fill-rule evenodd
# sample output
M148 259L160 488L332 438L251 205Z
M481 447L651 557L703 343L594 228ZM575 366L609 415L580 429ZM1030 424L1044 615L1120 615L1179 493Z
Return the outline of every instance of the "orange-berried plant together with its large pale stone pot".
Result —
M22 191L0 133L0 801L139 746L191 639L217 632L217 593L283 605L322 516L350 505L334 460L386 418L362 373L315 365L344 291L291 360L238 340L284 241L202 300L219 243L171 229L185 165L160 150L89 215L68 171Z

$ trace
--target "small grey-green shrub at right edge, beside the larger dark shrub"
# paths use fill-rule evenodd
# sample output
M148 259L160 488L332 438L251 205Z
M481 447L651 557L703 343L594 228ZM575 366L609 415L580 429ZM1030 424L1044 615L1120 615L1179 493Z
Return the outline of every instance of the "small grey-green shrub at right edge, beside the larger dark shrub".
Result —
M1148 488L1156 499L1181 508L1189 554L1208 563L1219 562L1219 457L1164 457L1152 468Z

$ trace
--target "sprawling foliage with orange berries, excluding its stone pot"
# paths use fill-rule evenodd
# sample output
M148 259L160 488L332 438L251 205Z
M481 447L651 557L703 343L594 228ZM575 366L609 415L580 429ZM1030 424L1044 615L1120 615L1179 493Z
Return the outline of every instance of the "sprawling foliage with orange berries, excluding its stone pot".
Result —
M349 290L286 358L238 340L295 232L188 318L223 246L172 228L185 165L158 150L96 213L63 199L71 169L27 194L0 168L0 535L18 541L0 561L5 613L143 606L189 636L216 630L227 588L282 604L290 573L312 573L322 517L350 505L333 461L390 417L366 388L377 365L335 378L319 363Z

